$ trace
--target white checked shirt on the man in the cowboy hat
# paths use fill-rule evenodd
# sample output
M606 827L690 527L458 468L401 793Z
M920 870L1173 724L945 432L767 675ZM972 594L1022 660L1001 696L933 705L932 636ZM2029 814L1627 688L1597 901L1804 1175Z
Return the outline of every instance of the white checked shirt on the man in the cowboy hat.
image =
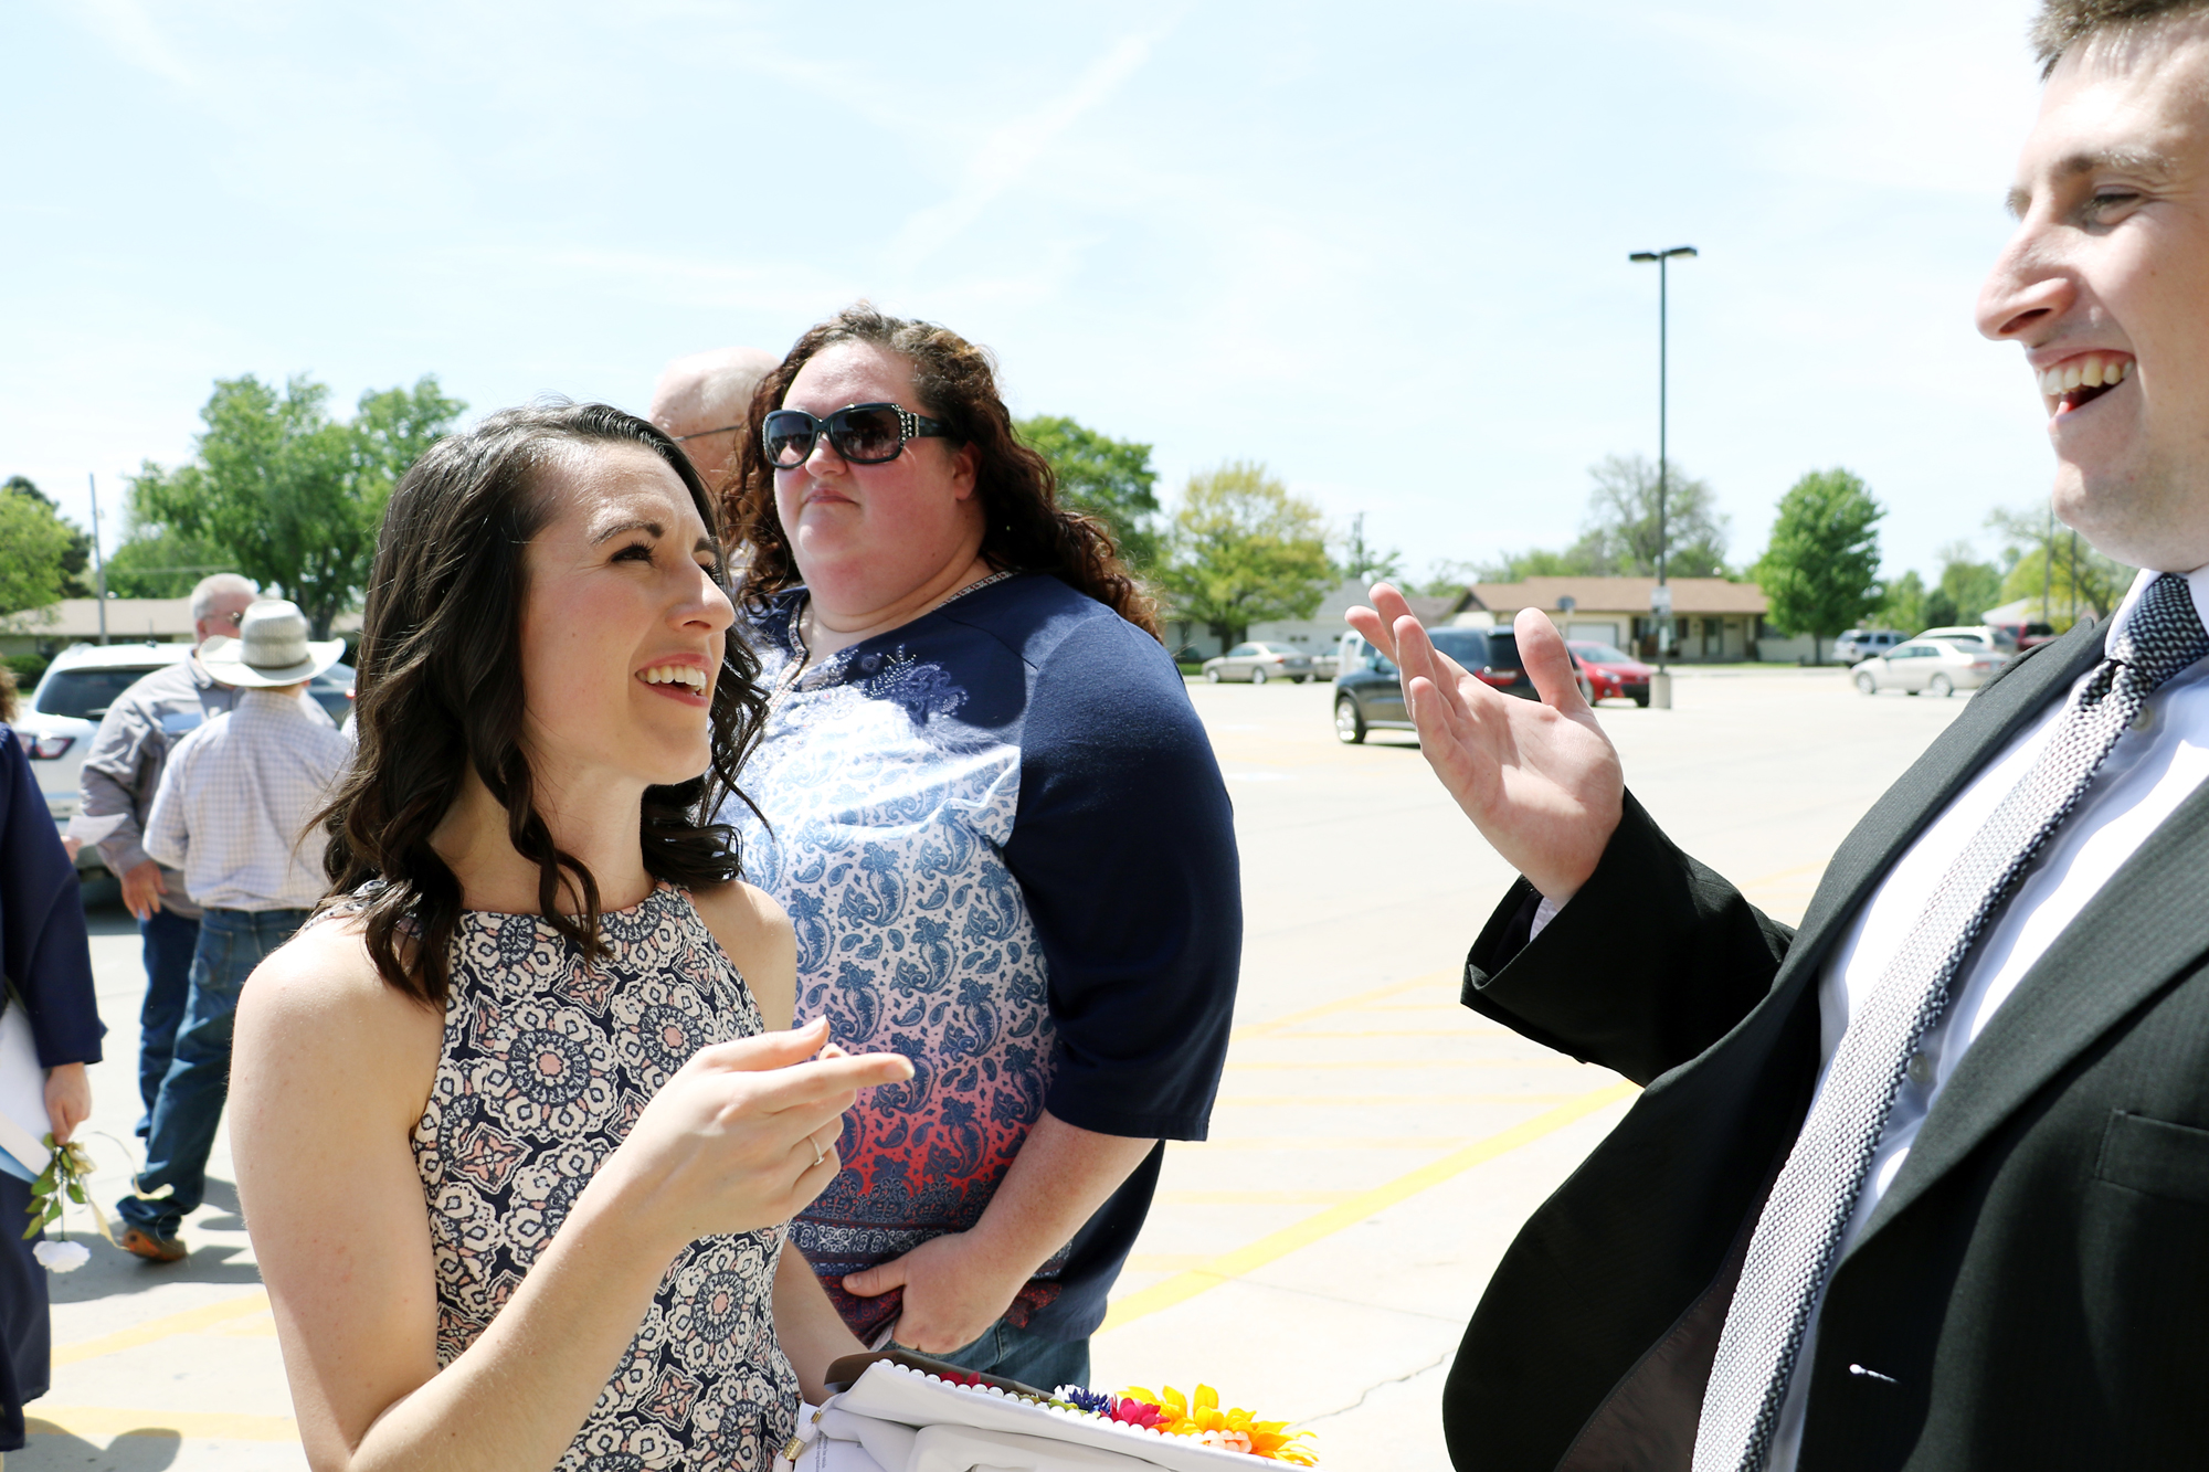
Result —
M303 829L351 758L353 743L305 694L241 690L236 709L170 749L146 853L181 869L208 908L305 911L329 889L329 840Z

